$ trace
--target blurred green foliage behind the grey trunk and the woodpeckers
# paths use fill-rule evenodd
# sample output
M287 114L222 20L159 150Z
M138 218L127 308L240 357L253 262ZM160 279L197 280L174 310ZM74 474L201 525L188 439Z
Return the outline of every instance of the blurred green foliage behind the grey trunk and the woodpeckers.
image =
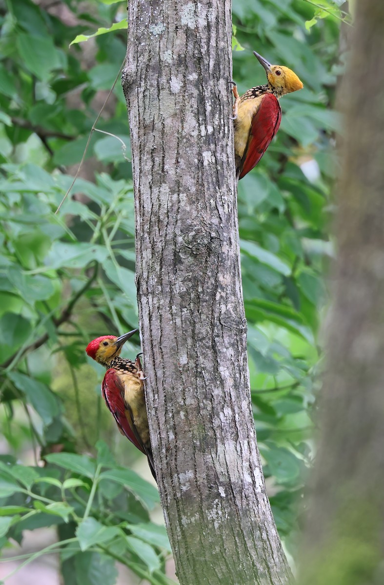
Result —
M340 22L349 18L341 4L233 3L239 92L265 82L253 49L304 82L282 100L277 139L238 185L253 412L270 501L290 552L313 456L321 275L332 257L327 226L338 118L330 104L344 62ZM100 397L104 372L84 353L90 339L138 325L119 82L80 177L54 214L123 63L125 4L13 0L0 7L0 546L15 558L23 531L52 526L57 542L35 557L60 552L65 584L112 585L116 561L150 583L170 583L166 532L151 520L157 490L131 469L138 453L116 432ZM78 44L111 23L112 32L101 29ZM137 345L126 349L138 352Z

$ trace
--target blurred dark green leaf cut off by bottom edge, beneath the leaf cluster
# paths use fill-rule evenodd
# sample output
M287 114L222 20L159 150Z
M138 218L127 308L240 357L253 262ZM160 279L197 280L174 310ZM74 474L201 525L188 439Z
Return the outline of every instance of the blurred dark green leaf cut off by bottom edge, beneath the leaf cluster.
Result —
M115 585L117 569L114 560L97 552L75 556L76 583L81 585Z

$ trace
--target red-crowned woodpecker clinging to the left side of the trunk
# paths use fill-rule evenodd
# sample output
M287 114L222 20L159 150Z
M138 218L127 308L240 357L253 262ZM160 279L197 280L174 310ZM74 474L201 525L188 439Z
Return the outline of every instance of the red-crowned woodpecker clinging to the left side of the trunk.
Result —
M101 384L105 404L114 415L121 434L147 456L150 470L156 479L140 353L136 356L135 362L120 357L122 346L137 331L139 330L133 329L120 337L103 335L88 343L85 351L88 356L107 368Z

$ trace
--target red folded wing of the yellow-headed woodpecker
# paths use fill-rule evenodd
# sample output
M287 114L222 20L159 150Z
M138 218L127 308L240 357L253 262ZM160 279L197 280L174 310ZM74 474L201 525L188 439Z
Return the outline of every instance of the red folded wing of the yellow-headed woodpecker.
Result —
M265 153L273 136L279 130L282 121L282 110L279 101L273 94L265 94L259 109L252 119L251 134L246 148L245 160L239 178L242 179Z

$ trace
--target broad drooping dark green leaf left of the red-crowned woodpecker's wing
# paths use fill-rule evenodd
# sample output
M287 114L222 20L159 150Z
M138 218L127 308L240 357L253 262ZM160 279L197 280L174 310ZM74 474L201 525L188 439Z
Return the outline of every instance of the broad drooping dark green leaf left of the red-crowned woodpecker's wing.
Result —
M11 371L8 377L16 388L25 394L27 400L42 417L44 425L49 425L57 417L59 414L57 398L45 384L18 371Z

